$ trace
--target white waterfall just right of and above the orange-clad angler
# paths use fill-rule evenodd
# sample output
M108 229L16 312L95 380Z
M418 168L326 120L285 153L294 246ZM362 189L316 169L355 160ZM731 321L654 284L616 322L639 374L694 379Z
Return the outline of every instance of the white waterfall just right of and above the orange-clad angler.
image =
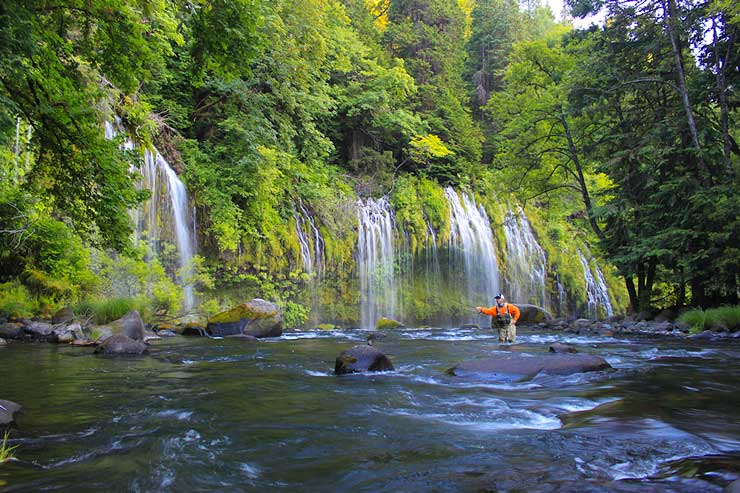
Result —
M517 214L509 210L504 220L506 231L507 297L513 303L533 303L546 306L545 276L547 258L532 233L521 207Z

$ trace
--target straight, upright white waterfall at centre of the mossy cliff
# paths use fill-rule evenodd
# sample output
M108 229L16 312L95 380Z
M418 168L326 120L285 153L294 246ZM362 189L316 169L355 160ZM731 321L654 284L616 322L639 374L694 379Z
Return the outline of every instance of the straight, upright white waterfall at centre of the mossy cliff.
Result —
M400 316L395 278L395 217L387 197L358 200L357 217L360 324L373 329L381 317Z

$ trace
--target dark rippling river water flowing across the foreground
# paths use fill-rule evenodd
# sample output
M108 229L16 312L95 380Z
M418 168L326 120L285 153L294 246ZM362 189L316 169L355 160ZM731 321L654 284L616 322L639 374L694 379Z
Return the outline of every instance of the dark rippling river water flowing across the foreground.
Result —
M489 330L400 329L396 370L337 377L367 332L158 341L147 356L0 348L24 406L0 491L721 491L740 475L740 344L519 330L613 369L496 383L448 376Z

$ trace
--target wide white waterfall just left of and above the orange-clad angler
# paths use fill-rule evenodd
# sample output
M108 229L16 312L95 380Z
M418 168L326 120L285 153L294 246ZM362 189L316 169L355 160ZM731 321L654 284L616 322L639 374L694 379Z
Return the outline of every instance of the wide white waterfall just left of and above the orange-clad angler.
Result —
M445 188L445 195L450 204L450 277L453 280L461 279L460 274L464 277L467 299L463 303L471 307L488 306L500 289L488 215L465 193L462 202L451 187Z

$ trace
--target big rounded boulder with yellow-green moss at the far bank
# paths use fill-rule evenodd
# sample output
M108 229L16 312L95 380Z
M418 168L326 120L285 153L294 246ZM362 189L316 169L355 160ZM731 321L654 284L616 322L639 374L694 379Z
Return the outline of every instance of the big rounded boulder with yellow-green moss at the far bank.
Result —
M216 337L238 334L258 338L280 337L283 334L283 314L274 303L255 298L214 315L206 330Z

